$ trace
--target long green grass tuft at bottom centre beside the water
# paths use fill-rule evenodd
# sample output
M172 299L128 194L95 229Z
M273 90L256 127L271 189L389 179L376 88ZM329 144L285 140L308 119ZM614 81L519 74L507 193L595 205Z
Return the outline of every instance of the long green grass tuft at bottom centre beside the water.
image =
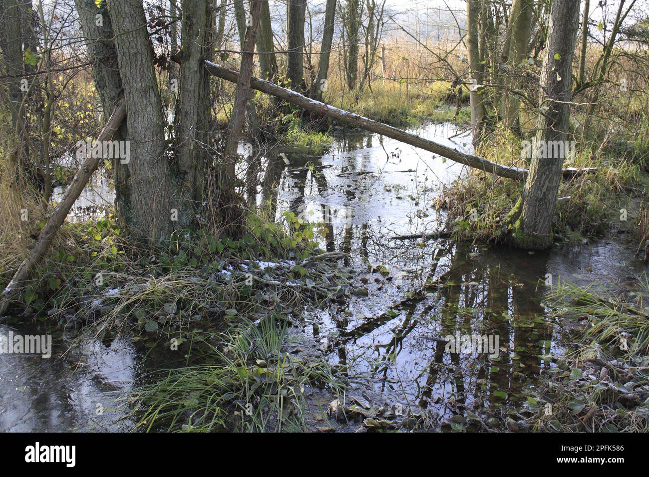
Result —
M281 315L240 321L225 333L194 332L192 338L201 364L169 369L123 403L134 430L304 431L306 389L344 394L341 377L326 361L286 351Z

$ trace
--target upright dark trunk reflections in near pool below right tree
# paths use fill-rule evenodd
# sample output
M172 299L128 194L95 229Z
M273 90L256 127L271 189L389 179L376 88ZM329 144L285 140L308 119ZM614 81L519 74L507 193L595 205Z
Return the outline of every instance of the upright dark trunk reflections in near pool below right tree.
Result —
M469 258L469 252L466 245L458 245L448 272L441 277L447 286L442 287L440 293L444 300L440 336L453 335L458 330L461 334L498 336L501 348L498 361L487 360L486 354L478 354L477 357L450 354L454 366L462 362L462 369L474 374L475 379L468 382L474 384L474 389L469 392L475 404L484 404L488 400L497 406L504 402L504 397L500 393L495 394L495 391L505 391L510 398L520 393L524 379L518 373L526 376L540 373L541 360L538 356L544 354L540 343L541 340L549 343L552 328L545 321L530 326L534 317L543 317L543 307L540 305L542 293L536 284L519 284L510 280L508 265L511 263L506 260L500 263L474 262ZM478 286L469 286L471 282ZM476 308L477 311L467 308ZM510 312L513 314L510 315ZM502 350L509 349L510 343L513 343L513 355ZM438 384L443 368L444 343L436 343L435 346L435 358L426 382L428 389L422 393L422 398L426 398L424 402L432 397L433 387ZM475 361L471 363L473 359ZM485 389L476 384L478 380L485 380ZM457 378L454 382L458 402L463 402L464 382L460 383Z

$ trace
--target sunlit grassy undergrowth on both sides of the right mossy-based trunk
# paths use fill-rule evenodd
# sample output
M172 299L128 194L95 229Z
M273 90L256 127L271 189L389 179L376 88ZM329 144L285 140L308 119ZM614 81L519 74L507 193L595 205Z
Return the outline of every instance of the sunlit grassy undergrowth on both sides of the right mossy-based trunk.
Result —
M511 138L492 138L478 152L499 164L528 167L515 144ZM595 167L596 171L561 182L553 222L555 240L579 243L618 229L637 234L639 243L644 243L649 236L643 221L646 157L618 156L612 150L602 153L593 146L578 151L565 167ZM447 228L460 238L508 243L508 214L523 186L523 182L471 169L445 188L437 208L447 212Z

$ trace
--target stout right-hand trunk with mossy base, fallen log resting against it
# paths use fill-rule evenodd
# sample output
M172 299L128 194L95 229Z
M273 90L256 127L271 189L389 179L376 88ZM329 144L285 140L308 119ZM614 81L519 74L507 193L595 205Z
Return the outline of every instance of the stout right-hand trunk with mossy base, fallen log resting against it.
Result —
M572 58L579 6L574 0L552 2L541 73L544 106L548 109L539 115L530 173L518 205L520 217L513 226L515 244L525 249L545 249L552 244L554 204L561 182L561 167L569 149L554 148L554 145L565 145L570 123Z

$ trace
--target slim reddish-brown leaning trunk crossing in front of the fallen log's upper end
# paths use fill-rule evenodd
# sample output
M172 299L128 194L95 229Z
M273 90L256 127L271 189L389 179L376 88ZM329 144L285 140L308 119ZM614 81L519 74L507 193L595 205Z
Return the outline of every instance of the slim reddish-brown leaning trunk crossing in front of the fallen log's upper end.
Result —
M241 68L237 80L237 88L232 106L232 116L228 124L228 136L223 151L224 167L219 175L219 193L221 194L221 204L223 214L223 223L226 231L231 235L236 235L241 225L241 211L238 210L238 204L234 197L234 180L236 162L238 160L237 149L239 145L239 135L245 121L245 104L250 95L250 79L252 77L252 66L254 60L254 45L257 40L257 29L259 27L260 9L262 0L251 0L250 16L248 27L245 30L243 43L241 45Z

